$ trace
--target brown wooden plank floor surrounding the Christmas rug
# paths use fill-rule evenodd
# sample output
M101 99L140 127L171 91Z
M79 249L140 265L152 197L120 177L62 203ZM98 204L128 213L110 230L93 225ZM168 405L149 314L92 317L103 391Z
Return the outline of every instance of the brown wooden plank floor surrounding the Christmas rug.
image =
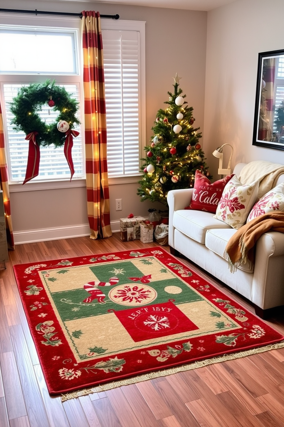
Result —
M79 237L17 245L9 252L7 268L0 271L0 427L284 427L284 348L63 403L49 396L12 265L152 246L158 245L122 243L114 234L98 241ZM284 334L284 313L267 323Z

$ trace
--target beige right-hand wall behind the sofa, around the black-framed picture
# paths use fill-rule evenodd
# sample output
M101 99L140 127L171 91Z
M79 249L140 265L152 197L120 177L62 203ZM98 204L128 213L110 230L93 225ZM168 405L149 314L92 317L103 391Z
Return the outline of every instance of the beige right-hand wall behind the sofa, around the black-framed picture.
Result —
M284 164L284 151L252 146L258 53L284 48L283 16L283 0L239 0L208 12L207 157L217 146L231 143L232 166L252 160ZM212 157L209 164L217 177L218 159Z

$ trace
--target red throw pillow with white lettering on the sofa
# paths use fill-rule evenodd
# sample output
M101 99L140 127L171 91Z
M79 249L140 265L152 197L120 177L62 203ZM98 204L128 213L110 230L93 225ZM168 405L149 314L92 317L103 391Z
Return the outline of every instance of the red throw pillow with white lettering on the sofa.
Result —
M216 213L224 187L233 176L234 174L232 173L232 175L228 175L211 184L207 176L196 170L192 199L190 205L185 209Z

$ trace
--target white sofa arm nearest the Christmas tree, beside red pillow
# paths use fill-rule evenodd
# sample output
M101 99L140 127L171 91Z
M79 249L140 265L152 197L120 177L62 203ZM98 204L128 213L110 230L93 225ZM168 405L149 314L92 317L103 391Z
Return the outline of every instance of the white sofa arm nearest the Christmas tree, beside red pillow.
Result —
M167 202L169 206L169 246L175 249L174 243L174 227L172 219L174 212L184 209L191 202L193 188L182 188L180 190L170 190L167 194Z

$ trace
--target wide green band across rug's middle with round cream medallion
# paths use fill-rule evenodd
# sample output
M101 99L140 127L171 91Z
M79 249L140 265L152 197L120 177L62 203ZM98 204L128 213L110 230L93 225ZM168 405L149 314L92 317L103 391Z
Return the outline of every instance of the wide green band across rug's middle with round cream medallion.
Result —
M138 309L139 307L153 303L159 304L169 300L174 301L174 304L177 305L186 302L202 301L204 299L202 295L188 287L179 278L165 279L147 284L130 282L128 279L127 284L119 283L116 286L98 287L97 289L106 295L102 303L98 302L97 299L94 299L90 303L84 303L83 300L89 295L84 289L52 292L51 296L63 322L66 320L99 316L108 313L109 310ZM145 297L145 290L146 297L149 295L148 299ZM140 299L138 300L140 302L135 303L135 301L131 301L133 293L140 295ZM113 295L117 295L117 297L115 298Z

